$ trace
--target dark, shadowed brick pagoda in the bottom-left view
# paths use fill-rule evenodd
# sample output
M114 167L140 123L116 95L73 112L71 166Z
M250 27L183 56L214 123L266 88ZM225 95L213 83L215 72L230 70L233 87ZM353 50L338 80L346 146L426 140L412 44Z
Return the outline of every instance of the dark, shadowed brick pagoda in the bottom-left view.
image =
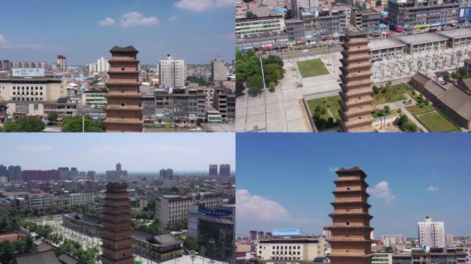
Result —
M103 264L133 264L131 206L127 185L110 182L103 206Z

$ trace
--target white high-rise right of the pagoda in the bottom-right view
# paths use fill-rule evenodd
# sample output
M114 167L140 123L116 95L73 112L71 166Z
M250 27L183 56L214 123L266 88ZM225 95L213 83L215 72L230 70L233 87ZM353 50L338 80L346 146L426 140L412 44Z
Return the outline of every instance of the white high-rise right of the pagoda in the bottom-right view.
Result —
M421 247L428 245L431 248L442 248L446 246L445 223L426 217L425 221L419 222L417 225Z

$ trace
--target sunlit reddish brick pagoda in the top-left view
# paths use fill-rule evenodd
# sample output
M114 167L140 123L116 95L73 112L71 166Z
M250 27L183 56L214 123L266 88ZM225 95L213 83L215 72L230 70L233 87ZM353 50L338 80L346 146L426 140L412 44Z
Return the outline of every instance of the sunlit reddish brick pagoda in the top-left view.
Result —
M138 51L133 46L113 47L109 52L107 132L143 131L143 107L139 91Z

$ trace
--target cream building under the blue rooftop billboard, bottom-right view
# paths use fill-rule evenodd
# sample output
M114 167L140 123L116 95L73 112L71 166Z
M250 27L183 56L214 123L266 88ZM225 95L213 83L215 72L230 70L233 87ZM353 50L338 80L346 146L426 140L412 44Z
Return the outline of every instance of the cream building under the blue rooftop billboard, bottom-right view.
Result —
M255 241L256 256L262 261L313 261L325 256L322 236L272 237Z

